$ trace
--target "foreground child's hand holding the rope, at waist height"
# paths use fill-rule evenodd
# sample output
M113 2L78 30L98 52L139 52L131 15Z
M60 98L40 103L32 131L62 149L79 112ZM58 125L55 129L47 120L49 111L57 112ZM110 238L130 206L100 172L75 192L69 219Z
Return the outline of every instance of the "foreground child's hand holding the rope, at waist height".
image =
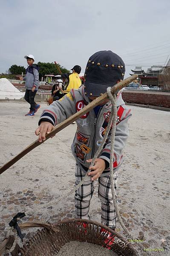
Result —
M92 159L88 159L86 160L88 163L92 162ZM88 176L93 176L92 180L97 180L98 177L101 176L102 172L104 171L104 169L106 168L106 164L105 161L101 158L97 158L95 160L95 165L94 166L90 166L89 170L92 170L92 172L88 173Z

